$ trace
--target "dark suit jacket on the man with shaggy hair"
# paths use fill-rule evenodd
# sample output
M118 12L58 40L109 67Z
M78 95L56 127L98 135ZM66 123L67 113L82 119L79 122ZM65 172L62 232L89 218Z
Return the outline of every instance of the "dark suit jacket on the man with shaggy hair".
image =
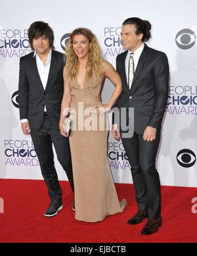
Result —
M18 86L20 119L27 118L32 130L37 131L41 127L45 106L51 121L51 128L59 129L60 108L64 92L63 69L64 55L53 50L47 86L44 90L33 52L20 58Z

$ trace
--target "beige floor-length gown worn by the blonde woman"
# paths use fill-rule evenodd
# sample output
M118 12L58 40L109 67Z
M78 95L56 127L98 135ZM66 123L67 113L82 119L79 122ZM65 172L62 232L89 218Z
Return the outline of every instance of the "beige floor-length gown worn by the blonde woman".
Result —
M70 149L74 174L76 220L99 222L106 216L123 212L127 201L118 201L114 179L107 157L108 118L95 115L94 106L101 104L102 79L85 83L77 79L72 89L72 133Z

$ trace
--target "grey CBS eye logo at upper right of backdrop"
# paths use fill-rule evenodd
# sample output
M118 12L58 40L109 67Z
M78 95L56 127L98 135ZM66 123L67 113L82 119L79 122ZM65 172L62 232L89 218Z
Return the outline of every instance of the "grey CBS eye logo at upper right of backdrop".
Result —
M194 46L195 43L196 35L192 30L188 28L179 31L176 36L176 44L181 49L190 49Z

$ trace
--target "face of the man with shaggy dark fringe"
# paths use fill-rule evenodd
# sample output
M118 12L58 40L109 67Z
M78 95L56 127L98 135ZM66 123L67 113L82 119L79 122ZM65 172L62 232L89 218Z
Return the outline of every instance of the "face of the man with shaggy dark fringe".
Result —
M45 35L39 38L33 38L33 49L35 49L35 51L39 54L49 53L49 38L47 38Z

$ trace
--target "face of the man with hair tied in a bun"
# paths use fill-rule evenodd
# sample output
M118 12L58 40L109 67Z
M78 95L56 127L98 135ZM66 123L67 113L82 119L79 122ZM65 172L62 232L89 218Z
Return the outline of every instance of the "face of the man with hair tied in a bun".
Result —
M136 51L142 44L143 34L137 35L135 24L125 25L121 29L121 43L123 48L130 50L131 52Z

